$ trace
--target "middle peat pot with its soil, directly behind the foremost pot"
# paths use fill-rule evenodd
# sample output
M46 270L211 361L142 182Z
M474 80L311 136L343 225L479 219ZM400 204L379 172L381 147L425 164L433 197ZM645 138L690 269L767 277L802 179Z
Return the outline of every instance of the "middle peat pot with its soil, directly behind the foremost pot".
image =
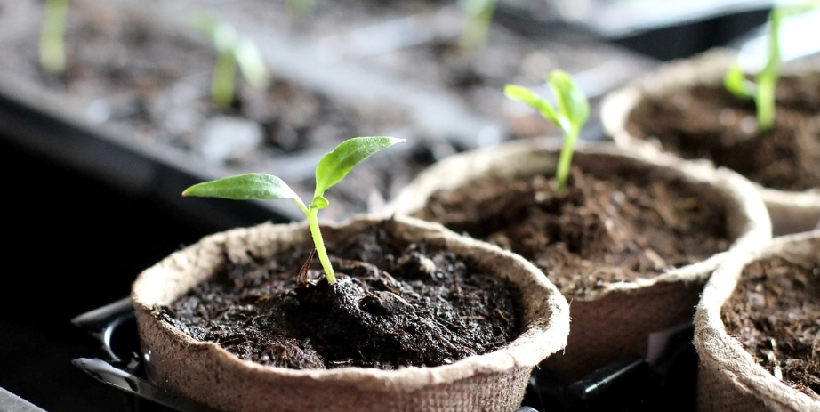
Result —
M546 365L576 379L628 354L658 356L662 348L649 343L650 335L691 324L715 266L767 241L771 227L756 190L740 175L608 143L576 148L562 200L551 181L560 143L516 141L448 158L420 174L389 210L444 222L542 269L571 302L572 318L567 348ZM509 191L486 193L490 182ZM579 194L579 182L591 191ZM612 186L596 189L605 183ZM641 190L646 198L631 198ZM673 190L682 194L662 196ZM600 206L601 198L609 203ZM691 223L703 227L684 223L692 213L707 215Z

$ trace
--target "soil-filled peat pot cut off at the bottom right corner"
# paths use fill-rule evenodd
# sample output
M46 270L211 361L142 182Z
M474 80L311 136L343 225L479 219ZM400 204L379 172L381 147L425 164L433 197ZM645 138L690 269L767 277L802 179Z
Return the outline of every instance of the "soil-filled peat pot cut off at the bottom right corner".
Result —
M775 238L712 274L695 316L702 411L820 411L820 231Z

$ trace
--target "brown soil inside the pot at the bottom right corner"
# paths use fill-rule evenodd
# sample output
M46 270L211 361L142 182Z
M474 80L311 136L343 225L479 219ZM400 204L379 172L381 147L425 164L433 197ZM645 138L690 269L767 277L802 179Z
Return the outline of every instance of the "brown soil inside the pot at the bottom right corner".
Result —
M781 257L752 263L720 315L760 366L820 400L820 265Z

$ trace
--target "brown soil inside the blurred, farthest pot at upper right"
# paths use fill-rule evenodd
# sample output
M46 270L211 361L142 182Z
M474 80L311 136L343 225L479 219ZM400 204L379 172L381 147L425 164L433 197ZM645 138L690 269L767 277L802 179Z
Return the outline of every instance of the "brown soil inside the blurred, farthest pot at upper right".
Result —
M775 127L760 132L752 100L722 85L700 85L645 99L627 129L683 158L707 158L764 187L820 187L820 74L784 77L776 89ZM813 118L815 117L815 118Z

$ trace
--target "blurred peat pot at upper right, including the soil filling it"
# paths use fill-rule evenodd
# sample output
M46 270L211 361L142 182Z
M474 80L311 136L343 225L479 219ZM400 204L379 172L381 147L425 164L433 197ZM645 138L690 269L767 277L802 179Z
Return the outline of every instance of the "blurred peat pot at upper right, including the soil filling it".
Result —
M820 221L817 59L784 66L767 133L758 130L753 101L723 86L735 61L734 51L713 49L607 94L604 130L619 146L647 145L743 174L758 186L775 235L813 230Z

